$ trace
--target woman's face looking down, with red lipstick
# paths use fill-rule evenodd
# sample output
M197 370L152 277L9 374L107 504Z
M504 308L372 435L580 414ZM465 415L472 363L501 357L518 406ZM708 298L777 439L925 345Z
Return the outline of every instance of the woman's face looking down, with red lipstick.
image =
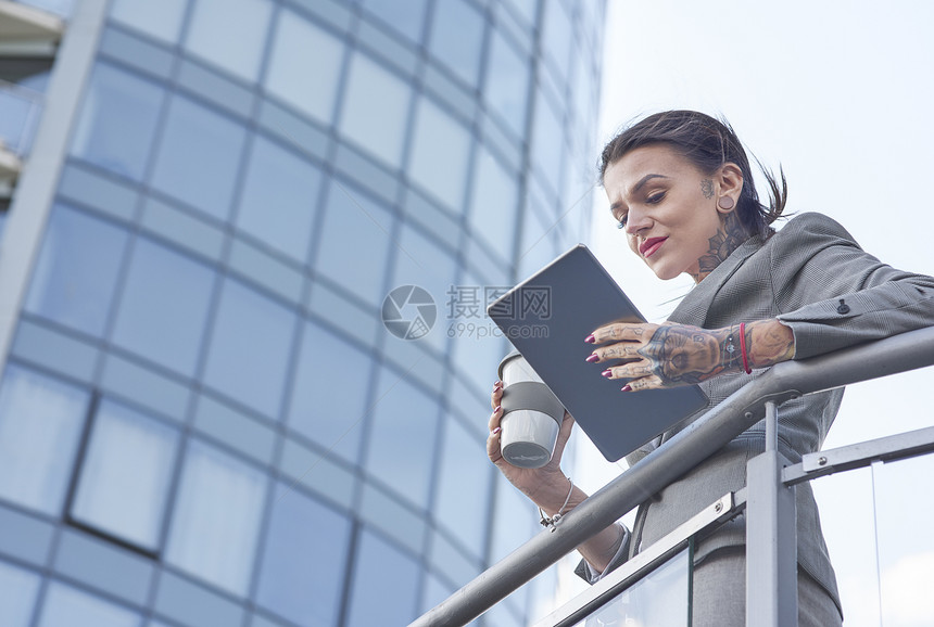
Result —
M666 144L649 144L611 164L604 189L629 247L659 279L687 272L699 281L714 269L722 234L716 177Z

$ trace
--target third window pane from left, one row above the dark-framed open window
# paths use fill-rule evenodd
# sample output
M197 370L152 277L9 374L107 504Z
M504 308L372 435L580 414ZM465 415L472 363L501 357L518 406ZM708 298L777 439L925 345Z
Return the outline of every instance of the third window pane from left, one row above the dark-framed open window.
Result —
M290 310L237 281L225 281L205 383L278 418L293 329Z

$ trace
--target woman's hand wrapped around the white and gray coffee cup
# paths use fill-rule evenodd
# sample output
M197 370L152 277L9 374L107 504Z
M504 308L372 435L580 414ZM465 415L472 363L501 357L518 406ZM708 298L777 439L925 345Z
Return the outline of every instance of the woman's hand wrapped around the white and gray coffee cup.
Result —
M501 420L503 419L503 383L497 381L493 385L490 395L490 405L493 413L490 415L490 436L487 438L487 455L500 472L509 479L514 486L521 490L532 501L543 509L557 510L565 501L568 494L568 479L561 472L561 456L565 445L571 435L573 418L565 412L558 439L555 444L555 452L545 465L537 469L519 468L510 464L503 458L500 448Z

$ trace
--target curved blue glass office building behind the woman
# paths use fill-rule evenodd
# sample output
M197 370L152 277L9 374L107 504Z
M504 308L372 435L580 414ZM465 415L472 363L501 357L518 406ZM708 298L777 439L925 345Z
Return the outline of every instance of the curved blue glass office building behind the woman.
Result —
M482 312L588 227L603 16L0 0L0 625L404 625L535 533Z

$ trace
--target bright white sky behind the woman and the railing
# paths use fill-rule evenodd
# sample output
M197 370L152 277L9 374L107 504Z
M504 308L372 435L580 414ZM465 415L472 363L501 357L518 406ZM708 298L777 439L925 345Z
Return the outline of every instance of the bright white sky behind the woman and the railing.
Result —
M883 261L934 274L934 3L608 0L607 11L601 145L656 111L724 116L784 170L786 213L826 214ZM660 321L690 279L661 282L626 248L602 190L593 210L588 243ZM932 381L927 368L850 386L824 448L931 425ZM590 491L624 468L577 439L591 463L576 481ZM917 489L932 475L934 455L813 482L847 627L934 624L934 501Z

